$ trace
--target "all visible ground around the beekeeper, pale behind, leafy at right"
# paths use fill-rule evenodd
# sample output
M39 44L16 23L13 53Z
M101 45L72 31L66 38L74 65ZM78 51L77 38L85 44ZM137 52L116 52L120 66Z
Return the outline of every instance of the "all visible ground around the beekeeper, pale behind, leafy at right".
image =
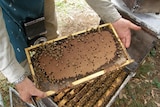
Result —
M98 15L83 0L55 0L61 36L99 24ZM160 40L113 103L113 107L160 107ZM10 84L0 75L0 92L8 105ZM7 106L8 107L8 106Z

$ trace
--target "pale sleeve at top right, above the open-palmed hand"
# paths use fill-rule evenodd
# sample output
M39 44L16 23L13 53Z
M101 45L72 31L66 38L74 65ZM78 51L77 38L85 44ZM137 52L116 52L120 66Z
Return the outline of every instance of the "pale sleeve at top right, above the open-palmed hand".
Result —
M86 2L104 22L112 23L121 18L110 0L86 0Z

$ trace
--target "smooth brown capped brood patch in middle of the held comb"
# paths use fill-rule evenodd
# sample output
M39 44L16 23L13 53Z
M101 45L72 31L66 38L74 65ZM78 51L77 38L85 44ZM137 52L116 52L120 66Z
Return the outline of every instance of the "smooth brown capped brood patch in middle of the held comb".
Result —
M116 44L108 31L69 39L55 42L56 46L48 44L47 50L38 57L40 66L51 80L86 75L115 57Z

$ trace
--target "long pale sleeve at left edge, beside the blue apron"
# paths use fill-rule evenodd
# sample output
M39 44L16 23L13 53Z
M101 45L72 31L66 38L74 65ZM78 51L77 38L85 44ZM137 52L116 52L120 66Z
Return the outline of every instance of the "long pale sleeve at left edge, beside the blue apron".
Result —
M3 19L2 9L0 8L0 71L13 83L24 75L24 68L17 62L13 47L9 41Z

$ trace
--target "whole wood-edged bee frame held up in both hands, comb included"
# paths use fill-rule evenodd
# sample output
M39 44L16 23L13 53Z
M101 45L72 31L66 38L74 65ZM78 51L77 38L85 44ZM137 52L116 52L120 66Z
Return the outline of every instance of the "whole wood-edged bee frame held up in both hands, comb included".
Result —
M26 48L37 87L53 93L133 62L111 24Z

